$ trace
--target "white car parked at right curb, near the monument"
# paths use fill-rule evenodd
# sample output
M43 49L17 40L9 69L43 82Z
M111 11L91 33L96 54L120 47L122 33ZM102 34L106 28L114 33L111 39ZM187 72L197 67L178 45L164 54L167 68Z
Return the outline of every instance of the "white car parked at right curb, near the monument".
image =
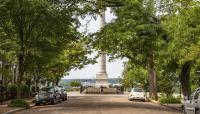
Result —
M145 101L146 100L145 92L142 88L132 88L131 92L128 95L128 99L130 101L132 100Z

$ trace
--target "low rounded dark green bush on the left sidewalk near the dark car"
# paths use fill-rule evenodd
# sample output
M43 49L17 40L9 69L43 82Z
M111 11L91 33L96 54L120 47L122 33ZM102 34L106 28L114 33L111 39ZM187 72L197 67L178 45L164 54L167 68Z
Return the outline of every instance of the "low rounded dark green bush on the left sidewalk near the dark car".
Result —
M9 107L22 107L22 108L30 108L29 103L27 103L24 99L15 99L11 100L8 104Z

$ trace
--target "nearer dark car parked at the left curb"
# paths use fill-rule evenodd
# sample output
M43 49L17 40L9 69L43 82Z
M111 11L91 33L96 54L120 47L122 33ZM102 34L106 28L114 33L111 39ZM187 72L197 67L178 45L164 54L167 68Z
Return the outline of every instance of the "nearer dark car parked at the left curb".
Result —
M61 102L61 94L58 87L44 87L39 90L35 96L35 104Z

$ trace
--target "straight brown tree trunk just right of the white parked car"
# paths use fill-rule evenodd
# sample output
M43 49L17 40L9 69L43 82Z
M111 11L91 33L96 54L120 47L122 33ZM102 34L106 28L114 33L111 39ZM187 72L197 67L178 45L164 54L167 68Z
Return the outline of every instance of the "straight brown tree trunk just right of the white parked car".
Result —
M154 69L153 55L150 56L148 61L148 75L149 75L149 85L150 85L150 97L153 97L155 100L158 100L157 95L157 77L156 71Z

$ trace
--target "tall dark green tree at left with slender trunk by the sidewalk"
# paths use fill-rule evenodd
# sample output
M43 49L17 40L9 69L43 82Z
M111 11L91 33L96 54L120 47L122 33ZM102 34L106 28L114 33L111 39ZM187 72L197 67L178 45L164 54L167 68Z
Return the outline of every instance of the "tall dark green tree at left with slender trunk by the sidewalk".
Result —
M48 0L1 0L0 4L1 35L17 44L17 97L20 98L20 85L29 63L27 56L33 47L38 46L33 45L34 41L44 41L40 47L51 47L49 50L42 48L43 51L59 52L59 48L54 47L77 39L76 20L72 18L75 7L71 7L73 2L63 4ZM51 54L48 57L51 57Z

